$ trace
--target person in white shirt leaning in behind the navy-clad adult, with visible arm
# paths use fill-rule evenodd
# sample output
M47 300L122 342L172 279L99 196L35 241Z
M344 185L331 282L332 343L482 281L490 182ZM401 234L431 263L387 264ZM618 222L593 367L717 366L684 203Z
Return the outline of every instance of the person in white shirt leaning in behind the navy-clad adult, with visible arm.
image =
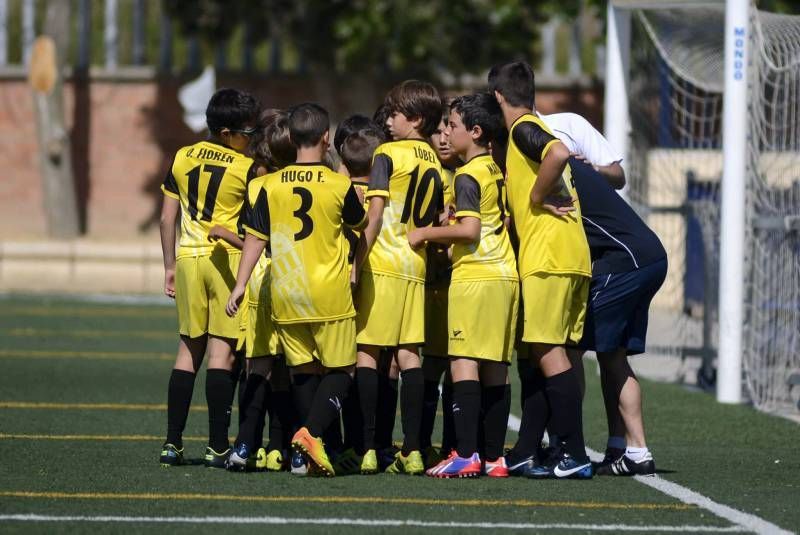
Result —
M603 134L583 116L577 113L536 114L573 156L594 167L614 189L625 186L625 170L620 165L622 155L614 151Z

